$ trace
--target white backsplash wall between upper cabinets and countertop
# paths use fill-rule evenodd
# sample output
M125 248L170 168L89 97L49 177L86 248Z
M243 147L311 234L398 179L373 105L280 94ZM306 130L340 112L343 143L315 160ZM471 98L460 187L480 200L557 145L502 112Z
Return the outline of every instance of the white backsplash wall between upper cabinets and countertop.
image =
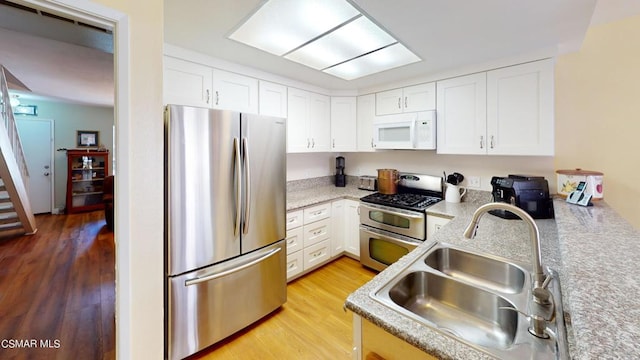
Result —
M335 173L335 157L345 157L347 175L377 175L377 169L392 168L405 172L435 176L459 172L465 176L480 176L480 189L491 190L492 176L525 174L544 176L549 190L556 192L553 157L550 156L488 156L438 155L435 151L377 151L373 153L288 154L287 180L307 179ZM463 182L466 186L466 180Z

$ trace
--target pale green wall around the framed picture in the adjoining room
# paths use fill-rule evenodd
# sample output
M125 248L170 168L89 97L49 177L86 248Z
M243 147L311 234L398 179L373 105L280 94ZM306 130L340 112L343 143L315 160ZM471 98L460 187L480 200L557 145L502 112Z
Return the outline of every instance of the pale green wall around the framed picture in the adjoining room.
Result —
M99 141L104 144L113 155L113 108L101 106L87 106L80 104L59 103L50 101L26 100L24 104L36 105L38 116L16 116L16 119L51 119L54 127L53 148L76 148L76 131L99 131ZM62 209L66 201L67 184L67 153L54 151L54 199L55 208ZM113 160L113 156L110 157ZM113 169L113 163L109 165Z

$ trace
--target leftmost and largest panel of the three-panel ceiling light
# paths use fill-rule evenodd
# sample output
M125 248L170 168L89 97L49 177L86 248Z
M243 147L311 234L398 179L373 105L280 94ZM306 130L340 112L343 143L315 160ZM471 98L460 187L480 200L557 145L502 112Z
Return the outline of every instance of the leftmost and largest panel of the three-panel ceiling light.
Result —
M359 14L344 0L270 0L229 38L282 56Z

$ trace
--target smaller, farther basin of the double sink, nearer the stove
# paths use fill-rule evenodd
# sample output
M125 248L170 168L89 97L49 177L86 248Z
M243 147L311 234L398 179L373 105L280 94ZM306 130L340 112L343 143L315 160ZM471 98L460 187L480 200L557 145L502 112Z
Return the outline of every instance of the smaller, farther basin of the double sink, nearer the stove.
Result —
M455 248L437 248L429 253L425 263L452 278L503 293L519 293L525 283L523 269L509 262Z

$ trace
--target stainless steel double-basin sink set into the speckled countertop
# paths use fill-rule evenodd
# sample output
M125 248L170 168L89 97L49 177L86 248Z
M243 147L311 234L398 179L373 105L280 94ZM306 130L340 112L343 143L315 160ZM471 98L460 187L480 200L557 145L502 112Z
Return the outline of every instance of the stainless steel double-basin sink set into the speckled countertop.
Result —
M402 315L501 359L568 358L557 274L543 339L529 333L530 266L436 243L370 296Z

